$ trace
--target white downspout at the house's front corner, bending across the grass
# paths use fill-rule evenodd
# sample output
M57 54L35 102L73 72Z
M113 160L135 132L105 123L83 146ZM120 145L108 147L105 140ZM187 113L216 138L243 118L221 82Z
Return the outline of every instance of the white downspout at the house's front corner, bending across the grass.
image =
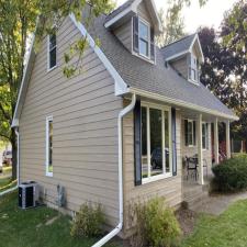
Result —
M132 96L132 102L126 108L124 108L119 114L117 127L119 127L119 203L120 203L120 223L119 225L101 238L98 243L96 243L92 247L101 247L106 244L110 239L116 236L123 228L123 125L122 120L123 116L126 115L135 108L136 96L135 93Z

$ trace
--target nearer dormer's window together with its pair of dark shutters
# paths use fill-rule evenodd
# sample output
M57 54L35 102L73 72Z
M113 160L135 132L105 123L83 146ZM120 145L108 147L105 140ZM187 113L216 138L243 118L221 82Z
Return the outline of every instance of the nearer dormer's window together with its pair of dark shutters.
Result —
M155 60L155 34L150 24L139 16L133 18L133 53Z

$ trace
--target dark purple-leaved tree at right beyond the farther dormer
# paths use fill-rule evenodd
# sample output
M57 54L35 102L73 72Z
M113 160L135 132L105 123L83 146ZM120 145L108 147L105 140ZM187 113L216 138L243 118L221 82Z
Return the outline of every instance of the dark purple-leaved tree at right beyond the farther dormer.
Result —
M218 33L201 29L205 56L201 81L232 108L239 121L232 124L234 138L247 139L247 3L237 2L226 12Z

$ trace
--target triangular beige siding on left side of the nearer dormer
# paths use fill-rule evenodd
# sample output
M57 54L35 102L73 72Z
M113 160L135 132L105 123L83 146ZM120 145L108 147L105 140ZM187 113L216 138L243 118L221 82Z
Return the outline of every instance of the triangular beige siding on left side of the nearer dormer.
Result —
M123 45L132 52L132 19L116 27L113 33L123 43Z

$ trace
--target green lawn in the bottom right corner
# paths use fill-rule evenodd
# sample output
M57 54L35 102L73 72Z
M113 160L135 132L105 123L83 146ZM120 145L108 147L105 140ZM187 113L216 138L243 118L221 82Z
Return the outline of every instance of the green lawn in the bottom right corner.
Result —
M182 247L246 247L247 200L231 205L220 216L202 215Z

